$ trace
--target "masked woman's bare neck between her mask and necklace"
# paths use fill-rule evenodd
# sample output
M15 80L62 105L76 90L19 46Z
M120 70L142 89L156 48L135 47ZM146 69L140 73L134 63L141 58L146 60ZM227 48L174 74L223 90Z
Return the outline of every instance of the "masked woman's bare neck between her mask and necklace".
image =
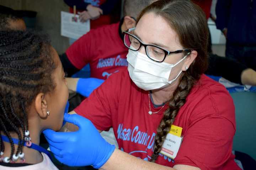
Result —
M177 89L178 83L179 79L163 89L151 90L154 104L162 104L169 101L174 94L174 91Z

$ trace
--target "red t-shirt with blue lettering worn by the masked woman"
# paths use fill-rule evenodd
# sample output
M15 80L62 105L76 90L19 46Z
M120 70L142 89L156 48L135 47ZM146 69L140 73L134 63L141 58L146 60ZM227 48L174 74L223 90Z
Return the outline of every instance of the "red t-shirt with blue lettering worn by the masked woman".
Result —
M151 111L157 112L159 108ZM139 89L128 70L113 74L84 100L75 112L90 119L98 130L113 127L119 149L149 160L156 129L164 110L149 115L148 91ZM231 153L235 134L235 109L225 87L202 75L180 108L174 125L183 128L176 158L161 155L156 163L173 167L185 164L202 170L236 170Z

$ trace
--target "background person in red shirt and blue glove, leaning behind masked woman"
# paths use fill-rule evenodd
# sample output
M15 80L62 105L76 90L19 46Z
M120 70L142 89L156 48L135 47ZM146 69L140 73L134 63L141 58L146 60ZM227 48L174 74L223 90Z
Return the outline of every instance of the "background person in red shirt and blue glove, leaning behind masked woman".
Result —
M127 69L128 50L123 44L122 32L135 27L135 18L139 12L153 1L124 1L124 18L120 22L90 30L60 56L64 71L68 76L73 75L86 64L90 64L92 78L67 78L70 90L87 97L112 73Z

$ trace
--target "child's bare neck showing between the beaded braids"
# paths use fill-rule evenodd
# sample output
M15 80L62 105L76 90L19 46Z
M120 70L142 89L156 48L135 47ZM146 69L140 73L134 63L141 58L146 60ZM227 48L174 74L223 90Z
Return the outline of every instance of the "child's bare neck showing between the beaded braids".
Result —
M30 131L30 137L31 137L31 142L39 145L40 142L40 132L36 131ZM3 132L1 132L1 135L5 135ZM15 132L10 132L10 135L12 138L18 139L18 135ZM21 131L22 135L22 131ZM6 136L6 135L5 135ZM11 154L11 144L9 142L4 142L5 150L4 150L4 157L10 157ZM14 154L17 152L18 145L14 144L15 150ZM35 149L32 148L27 148L26 146L23 146L23 153L25 154L25 163L28 164L37 164L43 161L42 154L38 152ZM21 163L21 160L18 159L16 163Z

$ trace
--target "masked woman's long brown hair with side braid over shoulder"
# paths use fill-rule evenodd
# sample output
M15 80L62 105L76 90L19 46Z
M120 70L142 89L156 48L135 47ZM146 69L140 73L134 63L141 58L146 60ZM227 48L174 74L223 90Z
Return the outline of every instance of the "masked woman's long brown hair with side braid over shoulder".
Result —
M185 49L194 49L198 53L188 70L181 74L178 87L170 97L169 108L164 112L164 116L158 126L154 151L150 160L155 162L177 113L185 104L193 85L208 67L207 45L209 32L204 12L190 0L156 1L140 13L137 22L148 12L153 12L156 16L164 18L177 33L181 45Z

